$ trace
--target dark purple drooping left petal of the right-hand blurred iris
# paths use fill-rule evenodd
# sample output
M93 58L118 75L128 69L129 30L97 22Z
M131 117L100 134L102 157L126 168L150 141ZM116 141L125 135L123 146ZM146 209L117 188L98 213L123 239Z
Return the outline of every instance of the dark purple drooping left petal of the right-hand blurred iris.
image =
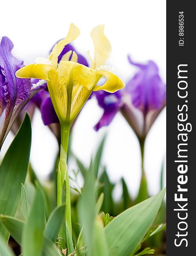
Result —
M103 116L94 127L95 131L98 131L101 127L109 125L115 114L118 112L121 106L121 92L108 93L101 90L96 92L95 95L98 105L104 109Z

